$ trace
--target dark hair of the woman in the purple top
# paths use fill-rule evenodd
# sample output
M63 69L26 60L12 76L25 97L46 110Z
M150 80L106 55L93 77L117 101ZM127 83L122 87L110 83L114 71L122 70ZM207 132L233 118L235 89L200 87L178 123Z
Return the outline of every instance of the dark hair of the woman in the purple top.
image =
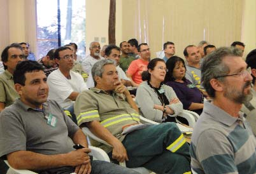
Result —
M166 83L167 81L175 81L175 78L173 77L173 69L177 62L182 62L182 64L185 67L185 70L187 70L186 66L185 66L185 61L183 60L183 58L180 58L178 56L173 56L173 57L169 58L166 62L166 68L168 69L168 72L166 72L166 77L164 78L164 83ZM182 80L185 81L186 78L183 77Z

